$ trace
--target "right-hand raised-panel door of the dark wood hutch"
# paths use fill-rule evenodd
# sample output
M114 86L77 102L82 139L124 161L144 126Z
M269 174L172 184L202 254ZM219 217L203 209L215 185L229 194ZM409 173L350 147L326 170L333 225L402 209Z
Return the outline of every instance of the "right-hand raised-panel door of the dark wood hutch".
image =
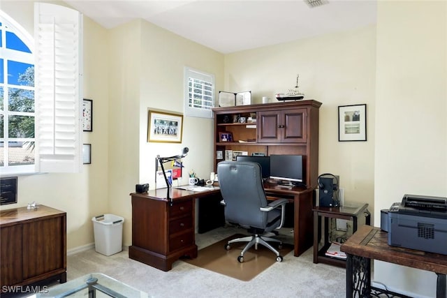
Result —
M307 142L307 110L286 110L281 113L281 142Z

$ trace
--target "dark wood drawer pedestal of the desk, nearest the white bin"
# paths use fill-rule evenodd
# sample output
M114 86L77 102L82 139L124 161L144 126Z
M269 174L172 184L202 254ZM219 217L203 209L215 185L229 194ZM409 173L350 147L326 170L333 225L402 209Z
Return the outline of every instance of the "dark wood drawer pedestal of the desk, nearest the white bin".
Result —
M129 258L163 271L186 255L197 257L194 231L195 198L191 192L160 188L131 193L132 245ZM216 191L218 192L218 191Z

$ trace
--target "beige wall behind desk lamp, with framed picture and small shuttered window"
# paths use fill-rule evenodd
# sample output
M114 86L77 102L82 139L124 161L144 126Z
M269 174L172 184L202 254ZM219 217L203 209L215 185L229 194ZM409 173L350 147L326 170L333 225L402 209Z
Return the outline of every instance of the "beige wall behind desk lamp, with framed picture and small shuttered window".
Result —
M181 144L147 142L147 111L183 114L184 66L216 75L222 85L223 55L142 20L110 30L109 210L125 218L124 245L131 245L131 198L135 184L154 188L155 157L179 154L184 173L212 171L212 119L183 117ZM219 90L219 89L217 89ZM186 175L184 175L186 177ZM179 185L186 184L184 179Z

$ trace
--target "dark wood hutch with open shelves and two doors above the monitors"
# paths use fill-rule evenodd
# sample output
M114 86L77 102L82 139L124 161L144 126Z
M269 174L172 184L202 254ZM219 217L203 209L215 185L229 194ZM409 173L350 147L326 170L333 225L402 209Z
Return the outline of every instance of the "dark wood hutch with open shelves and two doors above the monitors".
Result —
M297 154L304 156L305 179L316 188L318 179L318 122L316 100L297 100L235 107L215 107L214 170L226 158L226 151L246 151L248 155ZM236 122L242 117L253 119ZM232 140L221 140L221 133L231 133ZM219 153L219 154L218 154ZM219 156L219 157L218 157ZM221 156L221 158L220 158Z

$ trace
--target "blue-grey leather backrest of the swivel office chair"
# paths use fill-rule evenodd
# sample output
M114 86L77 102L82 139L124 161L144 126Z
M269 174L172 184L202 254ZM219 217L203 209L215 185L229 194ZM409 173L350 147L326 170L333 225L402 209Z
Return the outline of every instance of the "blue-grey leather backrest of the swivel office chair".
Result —
M245 228L265 229L268 205L265 197L261 165L248 161L221 161L217 164L219 186L226 203L225 218Z

